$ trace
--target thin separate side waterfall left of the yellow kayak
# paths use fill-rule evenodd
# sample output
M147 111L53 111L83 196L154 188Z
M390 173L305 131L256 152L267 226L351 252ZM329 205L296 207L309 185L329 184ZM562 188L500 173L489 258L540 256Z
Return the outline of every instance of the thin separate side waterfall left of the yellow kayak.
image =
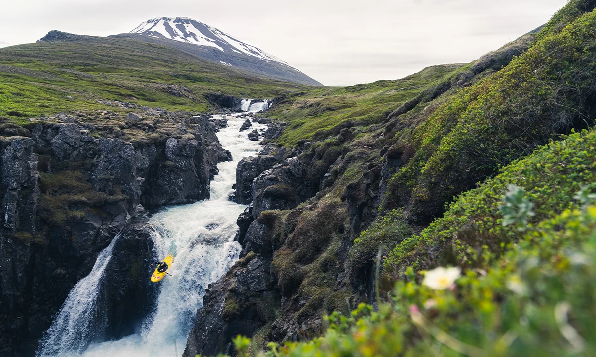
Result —
M60 312L41 340L38 356L83 352L97 331L105 327L105 317L97 310L97 300L105 268L110 263L119 237L120 233L97 257L91 273L70 290Z

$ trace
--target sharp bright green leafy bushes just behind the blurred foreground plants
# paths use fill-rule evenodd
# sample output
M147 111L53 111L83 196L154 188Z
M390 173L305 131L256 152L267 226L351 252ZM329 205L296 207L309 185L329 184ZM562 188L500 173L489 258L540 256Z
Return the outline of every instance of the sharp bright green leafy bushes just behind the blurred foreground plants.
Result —
M483 253L501 252L502 243L514 240L517 236L515 227L520 227L502 224L504 220L499 207L504 188L515 184L525 190L526 198L532 201L533 216L527 212L529 202L524 201L526 198L518 196L517 201L511 201L513 198L507 196L510 203L505 205L510 204L511 209L516 206L515 210L521 206L526 211L523 217L516 218L517 223L527 221L532 225L550 218L572 208L575 193L596 182L594 148L596 131L583 131L508 165L478 189L461 195L449 206L443 218L398 244L387 259L386 267L404 271L410 265L424 268L447 262L458 265L485 262Z

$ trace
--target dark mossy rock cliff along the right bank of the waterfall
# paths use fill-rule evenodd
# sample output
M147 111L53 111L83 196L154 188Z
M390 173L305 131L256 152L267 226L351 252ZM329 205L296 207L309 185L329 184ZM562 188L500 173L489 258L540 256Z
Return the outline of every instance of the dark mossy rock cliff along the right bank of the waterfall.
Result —
M280 124L270 124L265 135L280 133ZM319 312L344 311L346 301L370 296L371 287L352 284L350 276L366 275L372 267L352 272L347 252L374 220L380 182L399 162L371 165L354 173L353 183L333 188L365 151L342 151L352 137L346 129L325 142L303 140L294 148L269 143L259 156L238 164L235 199L251 203L238 218L243 252L207 289L185 357L234 354L231 340L238 334L254 336L263 347L267 341L316 336L324 328Z

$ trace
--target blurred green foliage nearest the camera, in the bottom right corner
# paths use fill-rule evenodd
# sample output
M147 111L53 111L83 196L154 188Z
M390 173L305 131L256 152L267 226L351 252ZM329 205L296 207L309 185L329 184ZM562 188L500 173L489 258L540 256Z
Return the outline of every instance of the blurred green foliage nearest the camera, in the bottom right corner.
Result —
M324 336L269 343L260 355L595 355L596 206L527 228L488 271L470 269L447 289L433 289L409 269L378 311L336 312ZM246 356L250 340L236 342Z

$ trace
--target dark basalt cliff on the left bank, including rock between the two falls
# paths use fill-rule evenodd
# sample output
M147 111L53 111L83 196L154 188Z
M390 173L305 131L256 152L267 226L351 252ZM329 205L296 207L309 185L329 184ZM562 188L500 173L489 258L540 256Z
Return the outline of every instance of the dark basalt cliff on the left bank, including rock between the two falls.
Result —
M125 224L144 207L209 197L216 163L229 159L209 117L150 108L94 115L41 118L21 136L0 137L2 356L34 355L52 315ZM113 280L123 284L107 295L117 306L108 316L114 337L138 322L126 306L151 296L138 275L147 270L138 264L152 249L150 230L139 224L114 250Z

